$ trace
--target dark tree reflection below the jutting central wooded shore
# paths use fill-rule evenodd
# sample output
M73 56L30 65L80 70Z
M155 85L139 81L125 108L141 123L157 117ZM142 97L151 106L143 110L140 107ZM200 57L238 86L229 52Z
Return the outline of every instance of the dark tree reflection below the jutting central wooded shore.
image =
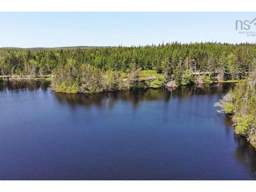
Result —
M55 93L55 97L60 103L68 103L72 108L76 106L84 106L90 108L95 105L102 108L106 105L109 108L113 108L117 101L129 101L133 103L133 106L139 104L140 101L154 101L164 99L168 102L169 99L179 98L185 99L191 95L206 95L206 94L218 94L221 96L223 93L228 92L233 88L232 83L217 83L212 85L197 85L191 87L182 87L176 90L132 90L132 91L115 91L115 92L102 92L92 94L66 94Z

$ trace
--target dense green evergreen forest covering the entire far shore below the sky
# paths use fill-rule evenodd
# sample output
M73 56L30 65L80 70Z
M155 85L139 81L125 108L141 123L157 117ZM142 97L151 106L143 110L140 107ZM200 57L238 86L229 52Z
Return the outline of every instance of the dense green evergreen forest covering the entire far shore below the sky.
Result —
M143 47L0 49L0 75L53 75L57 92L91 93L243 79L256 64L255 44L214 42Z

